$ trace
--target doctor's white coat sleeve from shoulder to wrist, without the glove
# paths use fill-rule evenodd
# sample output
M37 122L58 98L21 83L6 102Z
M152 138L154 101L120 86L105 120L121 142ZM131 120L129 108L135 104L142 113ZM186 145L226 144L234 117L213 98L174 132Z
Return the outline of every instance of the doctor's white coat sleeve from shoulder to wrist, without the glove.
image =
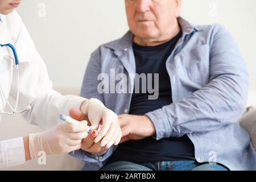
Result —
M72 107L79 108L85 98L63 96L52 90L46 65L34 46L27 28L14 11L14 47L19 58L19 110L31 106L22 114L27 122L49 129L60 122L60 114L68 114ZM14 71L14 74L15 71ZM10 96L16 99L18 79L14 76Z

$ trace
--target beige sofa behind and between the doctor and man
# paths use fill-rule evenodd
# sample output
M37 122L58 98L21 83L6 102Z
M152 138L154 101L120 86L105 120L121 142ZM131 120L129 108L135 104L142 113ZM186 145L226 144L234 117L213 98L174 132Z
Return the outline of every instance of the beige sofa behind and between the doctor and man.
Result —
M79 94L78 88L56 88L56 90L63 94ZM248 106L251 105L256 107L256 92L249 93ZM0 140L21 137L40 131L42 130L39 127L29 125L19 115L5 115L0 123ZM39 165L37 160L31 160L24 165L8 170L81 170L83 164L72 156L59 155L47 156L46 165Z

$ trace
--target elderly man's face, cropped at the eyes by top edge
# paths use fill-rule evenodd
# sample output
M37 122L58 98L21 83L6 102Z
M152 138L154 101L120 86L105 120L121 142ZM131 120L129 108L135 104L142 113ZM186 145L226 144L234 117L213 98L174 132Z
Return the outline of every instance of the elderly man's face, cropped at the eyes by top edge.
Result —
M125 0L131 32L140 39L159 39L177 21L181 0Z

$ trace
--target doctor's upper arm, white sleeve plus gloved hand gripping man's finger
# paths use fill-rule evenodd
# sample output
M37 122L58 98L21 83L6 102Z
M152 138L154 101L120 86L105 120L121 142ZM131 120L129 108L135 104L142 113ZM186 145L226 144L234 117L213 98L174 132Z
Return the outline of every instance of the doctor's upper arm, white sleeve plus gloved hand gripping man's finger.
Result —
M30 34L22 22L17 36L14 46L18 48L17 52L20 52L19 107L31 106L30 110L22 114L26 121L43 129L49 129L60 122L60 114L68 115L72 108L81 108L82 112L89 118L92 128L98 127L102 122L102 130L94 142L97 143L102 138L108 138L108 135L113 133L121 133L117 115L99 100L87 100L71 95L63 96L52 90L52 82L48 77L46 65L36 51ZM16 85L18 82L14 80L11 93L16 93ZM15 95L13 97L15 98ZM108 143L109 141L106 142L106 144Z

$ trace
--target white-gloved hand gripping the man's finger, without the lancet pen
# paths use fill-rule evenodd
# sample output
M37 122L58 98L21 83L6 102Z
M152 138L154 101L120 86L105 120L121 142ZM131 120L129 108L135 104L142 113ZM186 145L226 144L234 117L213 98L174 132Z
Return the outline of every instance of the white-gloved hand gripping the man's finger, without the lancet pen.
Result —
M96 98L91 98L81 106L84 113L92 126L92 130L98 129L100 123L101 131L95 138L94 143L98 143L101 139L101 147L110 148L113 144L117 145L122 137L122 131L118 122L117 115Z

